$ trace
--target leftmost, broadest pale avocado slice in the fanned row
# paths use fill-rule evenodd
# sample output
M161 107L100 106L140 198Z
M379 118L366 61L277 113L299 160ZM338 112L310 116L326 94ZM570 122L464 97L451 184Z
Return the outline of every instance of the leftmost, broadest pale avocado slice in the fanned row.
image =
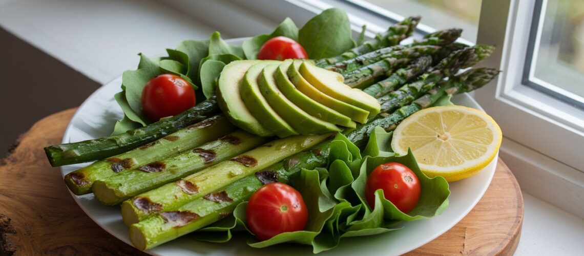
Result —
M232 61L227 64L217 82L217 102L232 124L259 136L274 136L253 117L239 95L239 86L249 67L261 61Z

